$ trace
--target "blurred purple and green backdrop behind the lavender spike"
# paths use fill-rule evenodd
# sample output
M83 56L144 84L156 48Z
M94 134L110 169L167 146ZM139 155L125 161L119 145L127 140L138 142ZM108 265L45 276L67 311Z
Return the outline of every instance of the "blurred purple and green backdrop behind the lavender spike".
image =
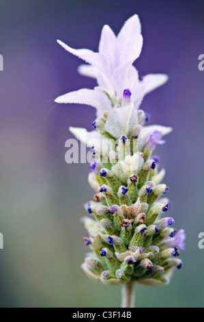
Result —
M87 127L91 107L57 105L55 97L93 88L78 75L81 60L56 40L98 50L104 24L115 33L139 14L144 45L134 66L140 75L166 73L169 82L147 95L150 124L173 126L158 147L173 201L175 227L188 236L184 267L169 286L136 286L136 307L203 307L202 0L1 0L0 250L1 307L117 307L120 286L92 282L81 270L85 254L80 223L93 191L89 164L66 164L69 126Z

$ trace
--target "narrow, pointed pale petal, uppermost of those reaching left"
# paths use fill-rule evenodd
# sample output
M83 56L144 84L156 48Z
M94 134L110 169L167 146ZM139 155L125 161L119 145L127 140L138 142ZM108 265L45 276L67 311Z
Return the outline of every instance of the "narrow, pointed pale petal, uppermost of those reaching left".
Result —
M98 69L100 69L102 73L107 73L108 75L110 75L110 66L108 64L108 60L104 55L102 55L102 53L94 53L89 49L73 49L68 45L65 45L65 43L61 40L57 40L57 42L66 51L69 51L73 55L76 55L78 58L85 60L85 62L98 67Z

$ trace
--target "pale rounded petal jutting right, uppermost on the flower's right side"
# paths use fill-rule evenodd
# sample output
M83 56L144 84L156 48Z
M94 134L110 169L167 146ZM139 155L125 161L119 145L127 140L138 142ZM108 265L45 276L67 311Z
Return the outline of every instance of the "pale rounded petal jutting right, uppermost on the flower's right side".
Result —
M168 76L165 74L148 74L143 77L143 84L145 86L144 94L146 95L151 90L155 90L159 86L165 84L168 80Z

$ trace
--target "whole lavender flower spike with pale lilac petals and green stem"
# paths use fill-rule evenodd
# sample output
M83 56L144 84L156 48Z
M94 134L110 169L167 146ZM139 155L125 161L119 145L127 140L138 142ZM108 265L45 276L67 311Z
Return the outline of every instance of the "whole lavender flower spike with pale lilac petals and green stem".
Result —
M98 53L57 42L88 63L79 66L79 73L98 82L93 90L76 90L55 100L96 108L93 131L70 127L72 134L91 148L93 156L89 184L95 195L85 205L91 218L83 217L88 232L85 245L91 252L82 268L98 282L123 284L122 306L131 307L134 282L168 284L173 270L182 266L179 249L185 249L185 232L176 232L169 216L169 187L161 184L165 171L158 171L160 158L152 156L172 128L145 125L149 114L139 109L143 97L168 77L149 74L139 80L132 65L143 45L136 14L117 37L104 25Z

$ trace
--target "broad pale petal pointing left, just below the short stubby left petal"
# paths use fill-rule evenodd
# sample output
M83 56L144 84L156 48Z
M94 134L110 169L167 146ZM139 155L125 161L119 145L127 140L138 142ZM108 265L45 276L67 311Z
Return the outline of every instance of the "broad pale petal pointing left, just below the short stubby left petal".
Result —
M111 110L111 101L103 92L100 90L89 90L87 88L61 95L55 99L55 102L86 104L102 111Z

